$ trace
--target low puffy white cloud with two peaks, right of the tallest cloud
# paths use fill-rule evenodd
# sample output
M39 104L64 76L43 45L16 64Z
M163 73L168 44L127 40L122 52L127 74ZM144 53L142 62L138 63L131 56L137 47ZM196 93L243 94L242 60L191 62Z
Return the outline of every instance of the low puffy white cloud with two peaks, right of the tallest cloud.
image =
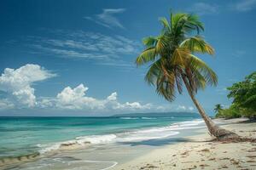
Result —
M55 107L58 109L84 111L132 111L134 109L147 110L151 108L150 104L142 105L139 102L125 102L124 104L121 104L118 101L118 94L116 92L110 94L106 99L95 99L86 96L86 91L88 89L89 88L84 87L84 84L80 84L76 88L64 88L61 93L56 96Z

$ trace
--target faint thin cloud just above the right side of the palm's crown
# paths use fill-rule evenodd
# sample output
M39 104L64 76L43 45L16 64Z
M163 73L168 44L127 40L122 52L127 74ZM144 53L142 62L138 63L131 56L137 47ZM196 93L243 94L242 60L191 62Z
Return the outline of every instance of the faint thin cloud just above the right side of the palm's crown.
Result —
M189 8L190 12L195 14L217 14L218 13L218 6L208 3L195 3Z

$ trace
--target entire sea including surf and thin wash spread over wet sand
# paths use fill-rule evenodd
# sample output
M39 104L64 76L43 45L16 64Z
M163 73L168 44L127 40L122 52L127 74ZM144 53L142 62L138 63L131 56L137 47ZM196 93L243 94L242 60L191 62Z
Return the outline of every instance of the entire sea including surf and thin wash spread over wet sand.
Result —
M31 161L29 166L17 169L104 169L111 167L119 159L101 158L102 150L117 152L113 146L160 145L166 139L175 139L184 129L202 127L198 117L2 117L0 118L0 159L7 162ZM162 140L164 139L164 140ZM154 142L150 144L150 141ZM102 144L105 144L102 147ZM98 146L101 146L99 150ZM90 159L68 161L63 150L73 155L84 148L83 154ZM91 151L91 149L97 149ZM148 150L148 147L146 147ZM125 148L127 149L127 148ZM142 148L141 148L142 149ZM107 150L107 149L106 149ZM132 150L127 149L127 153ZM134 150L135 152L137 150ZM90 152L90 153L89 153ZM59 155L61 153L61 155ZM98 156L96 156L98 153ZM69 153L70 154L70 153ZM91 157L91 155L94 155ZM55 156L55 157L53 157ZM70 158L70 157L69 157ZM108 158L108 156L107 156ZM4 162L3 162L4 161ZM37 165L33 165L36 163ZM1 164L1 162L0 162ZM21 164L20 164L21 166ZM14 167L15 168L15 167Z

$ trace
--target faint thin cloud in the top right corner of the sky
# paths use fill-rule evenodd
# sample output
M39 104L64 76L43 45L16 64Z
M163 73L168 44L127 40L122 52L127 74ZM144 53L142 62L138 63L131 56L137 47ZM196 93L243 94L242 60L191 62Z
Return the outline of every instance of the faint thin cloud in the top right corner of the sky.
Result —
M256 0L241 0L232 6L237 11L246 12L256 8Z

